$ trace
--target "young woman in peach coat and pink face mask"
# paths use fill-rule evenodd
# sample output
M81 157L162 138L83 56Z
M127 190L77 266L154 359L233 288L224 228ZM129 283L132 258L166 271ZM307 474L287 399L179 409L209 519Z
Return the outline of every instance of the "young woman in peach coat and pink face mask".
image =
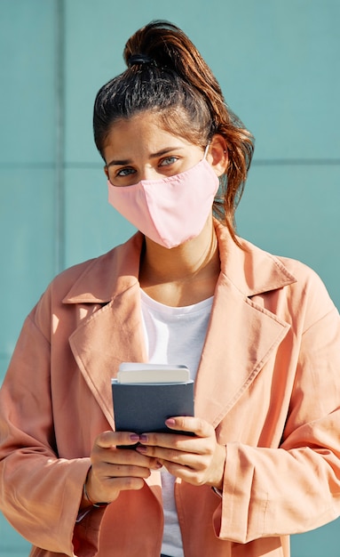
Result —
M55 278L25 322L1 507L35 556L287 557L289 534L340 513L339 316L312 270L235 235L252 137L194 44L155 21L124 59L94 136L139 231ZM115 432L122 361L186 364L195 416Z

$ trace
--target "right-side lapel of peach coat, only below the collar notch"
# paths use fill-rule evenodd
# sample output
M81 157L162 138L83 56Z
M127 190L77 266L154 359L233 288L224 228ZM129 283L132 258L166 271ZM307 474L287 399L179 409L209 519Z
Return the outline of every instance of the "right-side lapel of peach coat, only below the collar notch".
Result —
M289 325L220 277L195 385L195 414L214 427L249 388Z

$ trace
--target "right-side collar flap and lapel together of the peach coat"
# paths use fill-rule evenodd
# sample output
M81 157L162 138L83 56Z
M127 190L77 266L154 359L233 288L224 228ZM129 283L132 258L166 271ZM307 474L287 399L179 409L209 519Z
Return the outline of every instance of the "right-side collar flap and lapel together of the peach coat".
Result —
M195 384L195 413L214 427L249 388L289 331L252 300L296 281L282 262L215 223L221 273Z

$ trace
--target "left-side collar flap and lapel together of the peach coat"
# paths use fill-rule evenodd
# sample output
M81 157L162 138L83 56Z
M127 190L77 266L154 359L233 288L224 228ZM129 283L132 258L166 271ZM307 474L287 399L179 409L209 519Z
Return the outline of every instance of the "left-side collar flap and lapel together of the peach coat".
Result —
M64 303L102 303L69 338L78 367L114 428L111 378L122 361L146 361L138 269L143 236L99 257L71 288Z

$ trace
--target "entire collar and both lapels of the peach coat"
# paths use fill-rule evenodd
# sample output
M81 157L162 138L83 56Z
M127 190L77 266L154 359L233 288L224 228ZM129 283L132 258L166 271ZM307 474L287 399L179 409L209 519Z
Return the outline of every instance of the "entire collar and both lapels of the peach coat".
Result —
M252 296L295 282L273 255L216 224L221 272L195 384L195 411L216 426L239 400L287 335L289 325L257 305ZM138 266L143 236L91 262L64 303L102 303L69 342L78 366L107 421L114 427L111 377L121 361L146 361ZM221 373L221 370L225 370Z

